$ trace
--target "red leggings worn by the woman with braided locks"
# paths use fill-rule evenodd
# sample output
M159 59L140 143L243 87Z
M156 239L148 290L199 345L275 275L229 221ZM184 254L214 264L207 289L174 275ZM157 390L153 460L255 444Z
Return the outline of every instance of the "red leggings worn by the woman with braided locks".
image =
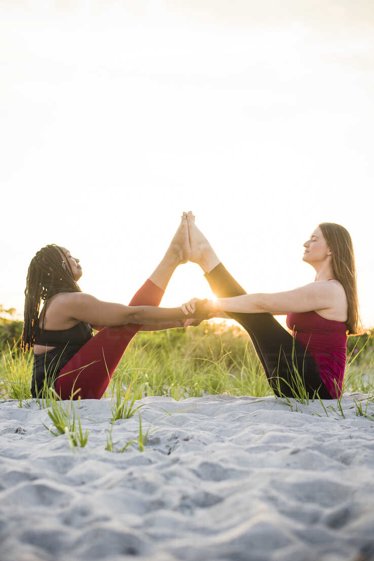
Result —
M147 279L133 296L130 306L158 306L164 291ZM103 327L61 369L55 389L61 399L100 399L108 388L118 362L142 325ZM74 386L74 387L73 387Z

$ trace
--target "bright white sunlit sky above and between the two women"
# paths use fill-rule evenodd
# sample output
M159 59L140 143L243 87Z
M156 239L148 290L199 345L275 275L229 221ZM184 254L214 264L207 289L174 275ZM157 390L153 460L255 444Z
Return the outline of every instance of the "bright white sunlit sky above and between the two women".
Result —
M48 243L126 304L183 210L247 292L314 279L338 222L374 325L372 0L1 2L0 304ZM211 296L182 265L163 305ZM279 319L279 316L278 316Z

